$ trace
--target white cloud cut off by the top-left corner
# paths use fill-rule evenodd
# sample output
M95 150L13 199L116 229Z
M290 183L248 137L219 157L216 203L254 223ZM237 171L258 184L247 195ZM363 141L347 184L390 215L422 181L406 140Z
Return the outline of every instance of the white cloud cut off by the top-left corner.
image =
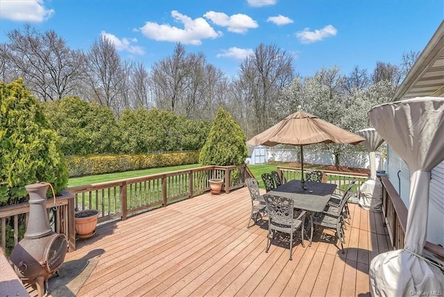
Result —
M1 0L0 19L15 22L40 23L54 14L53 9L46 9L43 0Z

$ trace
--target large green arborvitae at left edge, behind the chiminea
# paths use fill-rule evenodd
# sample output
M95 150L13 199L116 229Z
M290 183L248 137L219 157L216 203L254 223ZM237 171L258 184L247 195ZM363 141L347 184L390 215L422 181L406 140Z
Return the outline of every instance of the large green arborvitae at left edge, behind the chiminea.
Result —
M68 183L57 134L22 79L0 82L0 205L25 201L25 185L37 181L51 183L56 192Z

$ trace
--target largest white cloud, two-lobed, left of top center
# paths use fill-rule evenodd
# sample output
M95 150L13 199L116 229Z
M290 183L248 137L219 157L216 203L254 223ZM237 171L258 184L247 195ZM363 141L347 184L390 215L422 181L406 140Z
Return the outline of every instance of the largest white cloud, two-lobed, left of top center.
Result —
M214 39L222 36L222 33L214 31L214 28L203 17L191 19L191 17L180 14L177 10L171 11L171 16L177 22L182 23L184 28L178 28L169 24L160 25L146 22L145 26L140 28L140 30L146 37L153 40L194 45L202 44L202 40L205 38Z

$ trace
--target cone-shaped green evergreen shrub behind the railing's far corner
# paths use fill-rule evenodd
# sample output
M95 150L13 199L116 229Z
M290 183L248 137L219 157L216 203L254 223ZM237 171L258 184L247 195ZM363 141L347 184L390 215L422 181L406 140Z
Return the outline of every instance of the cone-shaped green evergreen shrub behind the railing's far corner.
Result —
M246 136L232 116L219 108L202 150L199 162L202 165L244 164L248 155Z

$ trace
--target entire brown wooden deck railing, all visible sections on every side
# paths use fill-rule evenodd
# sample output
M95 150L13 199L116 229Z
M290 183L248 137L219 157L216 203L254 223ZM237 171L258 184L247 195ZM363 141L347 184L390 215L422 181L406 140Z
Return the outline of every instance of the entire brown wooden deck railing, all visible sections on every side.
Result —
M367 179L362 173L343 173L324 171L326 183L336 183L338 189L343 189L350 180L357 179L353 189L357 191ZM278 173L286 180L300 179L300 168L278 167ZM252 176L245 164L229 167L198 167L181 171L158 173L151 176L115 180L107 183L97 183L79 187L69 187L63 196L56 198L57 210L54 212L53 200L48 199L46 207L49 217L53 218L51 225L55 232L63 233L69 241L69 251L76 248L74 231L74 212L94 208L99 210L99 223L115 219L126 219L128 216L165 207L184 198L192 198L210 190L208 180L221 178L224 180L223 191L229 193L233 189L244 187L245 179ZM407 226L407 207L391 185L388 178L381 177L383 187L383 212L386 218L388 232L393 248L404 247L404 234ZM228 181L228 183L227 183ZM27 224L29 213L28 203L0 207L0 244L3 251L6 249L6 225L12 222L13 241L17 244L19 238L19 224ZM426 243L425 248L438 257L444 258L441 246Z

